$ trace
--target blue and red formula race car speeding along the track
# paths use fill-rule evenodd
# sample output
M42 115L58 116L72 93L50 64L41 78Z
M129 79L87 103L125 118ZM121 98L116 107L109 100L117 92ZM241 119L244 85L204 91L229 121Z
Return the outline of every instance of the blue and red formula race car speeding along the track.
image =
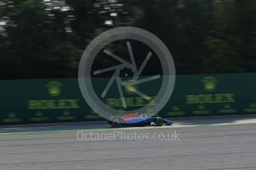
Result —
M152 124L155 126L163 126L164 124L168 126L172 125L171 120L166 120L160 117L146 117L139 113L131 113L124 115L121 118L113 117L111 120L108 120L108 123L114 128L119 126L150 126Z

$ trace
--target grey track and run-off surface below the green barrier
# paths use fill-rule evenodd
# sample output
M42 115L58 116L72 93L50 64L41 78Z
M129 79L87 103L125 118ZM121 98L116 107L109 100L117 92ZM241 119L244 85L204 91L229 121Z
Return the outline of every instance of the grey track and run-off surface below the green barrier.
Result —
M122 129L106 123L2 127L0 169L256 169L255 118Z

